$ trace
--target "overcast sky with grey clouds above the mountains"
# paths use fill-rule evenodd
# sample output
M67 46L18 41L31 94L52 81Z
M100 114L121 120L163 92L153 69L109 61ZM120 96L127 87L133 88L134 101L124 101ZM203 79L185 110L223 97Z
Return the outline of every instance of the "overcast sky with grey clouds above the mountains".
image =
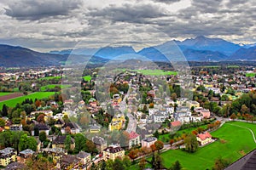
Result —
M255 0L1 0L0 43L40 51L196 36L256 42Z

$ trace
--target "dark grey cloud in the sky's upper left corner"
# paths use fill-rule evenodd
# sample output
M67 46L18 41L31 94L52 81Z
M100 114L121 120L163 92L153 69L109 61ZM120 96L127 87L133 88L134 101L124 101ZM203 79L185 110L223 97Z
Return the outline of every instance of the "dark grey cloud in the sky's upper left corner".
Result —
M5 14L17 20L40 20L42 18L67 15L75 8L79 8L80 0L34 1L25 0L8 3Z

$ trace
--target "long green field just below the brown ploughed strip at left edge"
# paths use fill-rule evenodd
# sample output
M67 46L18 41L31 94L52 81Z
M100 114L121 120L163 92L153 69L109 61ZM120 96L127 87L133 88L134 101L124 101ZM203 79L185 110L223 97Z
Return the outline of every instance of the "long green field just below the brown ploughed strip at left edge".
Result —
M28 94L26 96L21 96L15 99L9 99L9 100L5 100L0 102L0 109L3 108L3 104L8 105L9 107L15 107L15 105L17 103L21 103L22 101L24 101L25 99L43 99L43 98L48 98L49 96L55 94L55 92L36 92L33 94Z

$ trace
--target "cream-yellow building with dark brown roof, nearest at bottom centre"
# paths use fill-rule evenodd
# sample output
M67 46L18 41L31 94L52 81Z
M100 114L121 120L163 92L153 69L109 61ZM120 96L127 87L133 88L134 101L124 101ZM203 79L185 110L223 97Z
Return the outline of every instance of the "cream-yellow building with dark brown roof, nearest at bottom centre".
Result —
M108 161L109 159L115 160L116 158L123 158L125 156L125 150L119 146L109 146L103 150L103 159Z

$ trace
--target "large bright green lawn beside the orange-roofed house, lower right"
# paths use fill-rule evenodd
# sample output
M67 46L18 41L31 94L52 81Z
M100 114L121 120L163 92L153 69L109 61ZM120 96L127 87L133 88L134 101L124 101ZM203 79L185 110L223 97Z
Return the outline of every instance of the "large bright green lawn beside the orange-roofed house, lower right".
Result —
M228 158L230 161L236 161L255 149L256 144L253 141L252 133L245 128L232 126L232 124L249 127L256 134L256 124L227 122L212 133L213 137L219 138L218 141L200 148L195 153L183 150L168 150L162 153L164 165L171 167L172 163L178 160L185 169L212 169L214 161L220 156Z

